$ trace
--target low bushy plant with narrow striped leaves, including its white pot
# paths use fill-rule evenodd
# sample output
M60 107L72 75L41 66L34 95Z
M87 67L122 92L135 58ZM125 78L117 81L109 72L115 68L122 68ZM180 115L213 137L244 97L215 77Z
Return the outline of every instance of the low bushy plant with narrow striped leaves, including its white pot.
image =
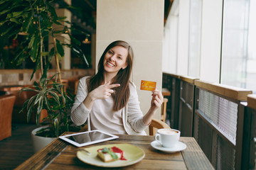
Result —
M35 114L36 124L39 125L41 111L46 110L48 116L43 118L45 126L36 128L31 133L34 151L46 147L48 143L55 140L63 132L70 131L70 109L73 106L74 96L68 95L63 90L63 84L50 79L41 78L40 83L34 82L33 86L21 89L22 91L33 91L34 96L28 98L23 104L22 111L27 111L27 120L30 120L31 113ZM72 131L79 128L73 126Z

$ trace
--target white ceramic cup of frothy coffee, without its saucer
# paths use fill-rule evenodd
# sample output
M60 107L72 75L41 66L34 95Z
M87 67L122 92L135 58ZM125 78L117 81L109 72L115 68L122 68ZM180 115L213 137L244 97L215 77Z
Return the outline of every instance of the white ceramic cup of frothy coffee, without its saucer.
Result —
M163 147L175 147L178 143L181 132L174 129L159 129L155 135L155 140Z

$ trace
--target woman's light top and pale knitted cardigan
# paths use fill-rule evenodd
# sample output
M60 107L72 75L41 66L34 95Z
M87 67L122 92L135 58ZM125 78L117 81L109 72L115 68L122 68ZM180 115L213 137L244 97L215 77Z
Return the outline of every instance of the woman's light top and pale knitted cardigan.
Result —
M71 109L71 120L75 125L87 121L88 130L97 129L113 134L146 135L148 125L143 123L143 113L139 107L138 94L134 83L129 83L129 100L120 111L112 112L113 99L98 99L92 109L85 107L83 101L87 96L86 79L82 77L78 84L75 103ZM91 118L92 117L92 118Z

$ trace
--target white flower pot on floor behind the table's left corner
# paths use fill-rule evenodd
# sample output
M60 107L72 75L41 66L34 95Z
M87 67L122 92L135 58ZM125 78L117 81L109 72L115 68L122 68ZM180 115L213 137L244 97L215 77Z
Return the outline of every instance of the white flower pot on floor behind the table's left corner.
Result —
M41 130L42 128L46 128L46 127L47 126L36 128L31 132L31 137L33 142L33 151L35 153L43 149L44 147L46 147L48 144L50 144L50 142L53 142L53 140L57 138L57 137L41 137L36 135L36 132L38 130Z

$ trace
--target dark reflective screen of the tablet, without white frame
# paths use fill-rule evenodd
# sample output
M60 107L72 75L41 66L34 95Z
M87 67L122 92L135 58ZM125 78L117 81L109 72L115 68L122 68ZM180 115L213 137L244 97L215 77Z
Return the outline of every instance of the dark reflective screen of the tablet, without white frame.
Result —
M78 135L68 136L67 138L74 142L78 142L79 144L82 144L82 143L86 143L86 142L104 140L109 137L112 137L112 136L107 135L102 132L92 131L92 132L82 133L82 134L78 134Z

